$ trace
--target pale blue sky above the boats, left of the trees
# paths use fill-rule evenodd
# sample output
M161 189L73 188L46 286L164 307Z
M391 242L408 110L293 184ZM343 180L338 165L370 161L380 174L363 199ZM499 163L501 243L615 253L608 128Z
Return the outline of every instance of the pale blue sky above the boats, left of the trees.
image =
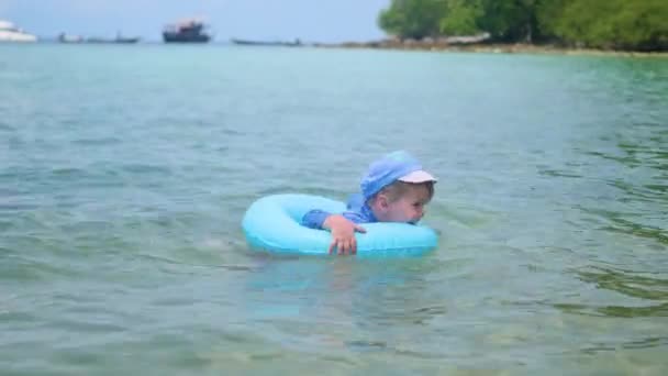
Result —
M0 20L41 37L141 36L159 41L166 23L203 18L215 41L370 41L385 36L378 12L390 0L0 0Z

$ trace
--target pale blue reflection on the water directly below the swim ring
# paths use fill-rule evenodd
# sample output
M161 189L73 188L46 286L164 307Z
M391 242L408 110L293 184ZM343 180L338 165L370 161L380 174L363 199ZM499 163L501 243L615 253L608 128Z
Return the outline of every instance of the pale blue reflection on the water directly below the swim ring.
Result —
M243 316L266 340L302 351L393 351L392 332L414 333L447 310L425 303L425 261L256 261L261 265L245 280Z

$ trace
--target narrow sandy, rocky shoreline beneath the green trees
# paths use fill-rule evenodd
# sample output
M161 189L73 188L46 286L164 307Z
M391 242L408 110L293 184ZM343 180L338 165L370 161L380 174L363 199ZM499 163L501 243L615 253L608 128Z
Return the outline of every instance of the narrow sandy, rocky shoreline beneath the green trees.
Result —
M616 57L668 57L668 52L612 51L593 48L561 47L555 45L536 45L524 43L471 43L444 44L417 41L379 41L344 42L336 44L315 43L319 48L346 49L387 49L446 53L482 53L482 54L531 54L531 55L572 55L572 56L616 56Z

